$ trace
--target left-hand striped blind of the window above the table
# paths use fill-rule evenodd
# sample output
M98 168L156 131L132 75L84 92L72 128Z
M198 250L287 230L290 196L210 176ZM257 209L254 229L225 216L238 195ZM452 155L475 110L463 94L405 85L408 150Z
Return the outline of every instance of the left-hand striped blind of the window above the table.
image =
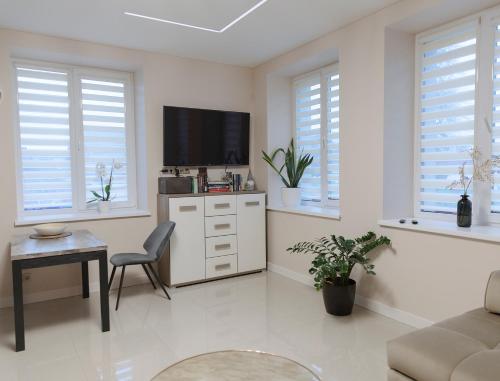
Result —
M73 206L68 73L16 67L22 209Z

